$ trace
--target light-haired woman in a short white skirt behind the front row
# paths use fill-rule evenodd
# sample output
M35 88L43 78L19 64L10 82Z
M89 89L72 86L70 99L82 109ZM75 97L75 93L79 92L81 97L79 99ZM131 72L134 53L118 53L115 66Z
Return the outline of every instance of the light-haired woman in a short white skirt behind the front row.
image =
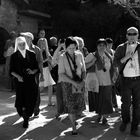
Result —
M55 84L55 81L53 80L50 70L51 70L51 61L52 57L50 55L49 49L48 49L48 43L46 38L40 38L38 40L38 47L41 49L42 56L43 56L43 77L44 81L40 81L39 86L40 87L48 87L48 96L49 101L48 105L52 106L52 93L53 93L53 85Z

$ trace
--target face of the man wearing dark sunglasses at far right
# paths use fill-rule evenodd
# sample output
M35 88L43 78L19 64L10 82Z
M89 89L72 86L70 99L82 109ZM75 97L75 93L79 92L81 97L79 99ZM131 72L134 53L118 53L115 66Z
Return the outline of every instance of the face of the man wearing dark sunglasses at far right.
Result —
M134 29L129 30L126 34L127 40L129 43L135 43L138 40L138 32Z

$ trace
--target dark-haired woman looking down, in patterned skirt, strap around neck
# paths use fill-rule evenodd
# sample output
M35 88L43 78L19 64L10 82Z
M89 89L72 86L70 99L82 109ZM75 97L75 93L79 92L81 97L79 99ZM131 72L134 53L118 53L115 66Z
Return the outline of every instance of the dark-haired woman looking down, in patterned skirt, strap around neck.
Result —
M63 82L64 111L69 114L72 135L77 135L75 117L85 109L83 100L85 86L85 63L81 52L76 51L77 42L73 37L66 38L66 51L59 58L59 80Z

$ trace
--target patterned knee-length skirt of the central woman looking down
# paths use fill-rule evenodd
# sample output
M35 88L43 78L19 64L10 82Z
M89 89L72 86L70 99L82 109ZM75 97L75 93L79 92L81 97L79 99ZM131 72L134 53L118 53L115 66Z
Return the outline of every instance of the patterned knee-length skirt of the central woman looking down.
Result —
M72 84L62 82L64 112L77 114L85 110L84 92L72 93Z

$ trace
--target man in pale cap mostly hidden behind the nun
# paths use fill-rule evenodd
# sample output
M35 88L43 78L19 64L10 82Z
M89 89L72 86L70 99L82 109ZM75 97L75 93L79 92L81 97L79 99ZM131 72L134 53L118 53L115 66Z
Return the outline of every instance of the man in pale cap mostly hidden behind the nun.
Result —
M24 32L24 33L20 33L20 35L25 37L26 42L29 46L29 49L35 52L36 59L37 59L37 62L38 62L39 68L40 68L40 81L44 80L44 78L43 78L43 57L42 57L40 48L35 46L32 43L32 41L34 40L33 34L30 32ZM37 80L37 84L39 86L39 74L37 74L36 80ZM39 106L40 106L40 90L38 88L38 98L37 98L36 107L34 110L34 116L37 116L39 114L39 112L40 112Z

